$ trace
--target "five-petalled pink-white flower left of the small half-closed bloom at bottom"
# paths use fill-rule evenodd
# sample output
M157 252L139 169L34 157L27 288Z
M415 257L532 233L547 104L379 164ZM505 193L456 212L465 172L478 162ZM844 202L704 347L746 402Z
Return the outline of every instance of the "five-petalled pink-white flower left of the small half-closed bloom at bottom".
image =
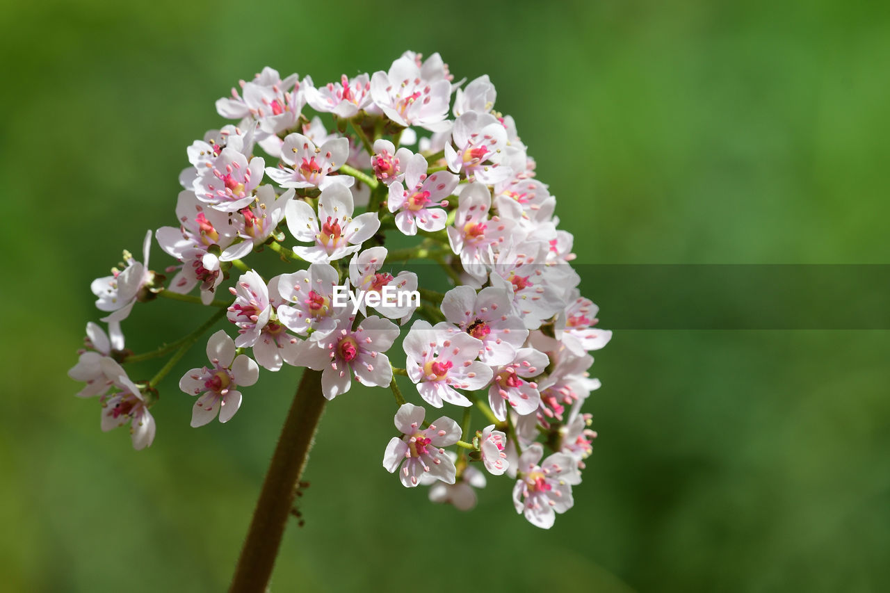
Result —
M424 475L431 475L444 483L454 483L454 463L445 455L443 447L460 440L460 426L451 418L436 418L427 428L421 428L426 410L412 403L404 403L395 414L395 427L402 437L393 436L384 452L384 468L390 474L399 471L401 483L412 488Z

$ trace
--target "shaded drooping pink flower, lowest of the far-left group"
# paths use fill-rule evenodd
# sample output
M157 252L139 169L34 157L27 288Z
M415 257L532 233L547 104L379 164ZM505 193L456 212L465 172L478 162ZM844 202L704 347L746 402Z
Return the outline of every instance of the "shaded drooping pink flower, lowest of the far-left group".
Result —
M136 451L145 449L155 440L155 418L152 418L142 392L117 362L106 358L101 364L102 372L120 390L101 397L102 431L108 432L129 422L133 448Z

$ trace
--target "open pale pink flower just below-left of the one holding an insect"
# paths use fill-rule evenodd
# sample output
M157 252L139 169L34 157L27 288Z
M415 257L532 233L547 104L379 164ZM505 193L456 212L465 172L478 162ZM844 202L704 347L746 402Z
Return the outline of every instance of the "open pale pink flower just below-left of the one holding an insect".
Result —
M436 408L442 402L472 405L457 389L481 389L491 380L491 368L475 361L481 340L465 333L450 334L444 321L431 326L418 320L402 342L409 378L417 392Z

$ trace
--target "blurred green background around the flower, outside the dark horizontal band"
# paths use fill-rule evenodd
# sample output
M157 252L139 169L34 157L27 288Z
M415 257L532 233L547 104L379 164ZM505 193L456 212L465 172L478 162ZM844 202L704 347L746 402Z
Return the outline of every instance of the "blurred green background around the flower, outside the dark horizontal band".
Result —
M89 282L174 223L185 147L239 78L268 64L323 84L405 49L490 74L579 262L888 264L888 9L5 0L0 589L227 586L298 371L195 430L176 380L196 348L140 452L100 432L66 371L99 317ZM205 315L137 307L127 345ZM886 590L888 361L887 331L617 332L587 403L600 438L548 532L506 479L469 514L406 491L380 467L392 395L353 389L323 418L272 590Z

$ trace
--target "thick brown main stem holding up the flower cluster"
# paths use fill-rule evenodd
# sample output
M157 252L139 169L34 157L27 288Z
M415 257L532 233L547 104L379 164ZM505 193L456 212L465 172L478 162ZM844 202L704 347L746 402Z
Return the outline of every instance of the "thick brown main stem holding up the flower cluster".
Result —
M296 486L309 459L312 439L326 402L321 395L321 372L304 370L256 501L230 593L267 590L287 518L294 508Z

